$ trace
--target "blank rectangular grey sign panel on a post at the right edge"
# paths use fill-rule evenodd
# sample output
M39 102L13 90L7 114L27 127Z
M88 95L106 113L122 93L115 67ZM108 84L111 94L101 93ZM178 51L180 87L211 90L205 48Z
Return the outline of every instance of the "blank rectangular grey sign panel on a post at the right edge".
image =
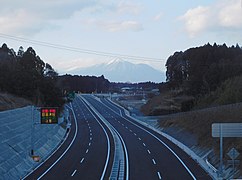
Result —
M242 123L214 123L212 124L213 137L242 137Z

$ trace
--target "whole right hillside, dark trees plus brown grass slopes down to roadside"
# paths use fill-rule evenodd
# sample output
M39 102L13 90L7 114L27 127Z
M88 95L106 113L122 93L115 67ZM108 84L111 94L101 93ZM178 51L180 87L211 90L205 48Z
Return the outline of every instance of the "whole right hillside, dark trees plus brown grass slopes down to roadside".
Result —
M195 146L210 149L219 157L219 138L212 137L212 124L242 123L241 47L206 44L190 48L175 52L166 67L167 82L160 86L160 95L150 99L141 111L159 116L164 130L192 134L197 140ZM241 138L224 138L225 164L233 147L242 153ZM211 156L213 164L218 164L216 156ZM238 159L241 162L242 155Z

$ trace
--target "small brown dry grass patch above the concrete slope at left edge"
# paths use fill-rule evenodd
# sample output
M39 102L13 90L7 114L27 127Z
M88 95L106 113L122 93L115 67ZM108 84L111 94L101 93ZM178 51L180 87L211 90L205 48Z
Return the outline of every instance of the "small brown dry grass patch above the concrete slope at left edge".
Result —
M24 98L16 97L8 93L0 93L0 111L20 108L31 104L30 101Z

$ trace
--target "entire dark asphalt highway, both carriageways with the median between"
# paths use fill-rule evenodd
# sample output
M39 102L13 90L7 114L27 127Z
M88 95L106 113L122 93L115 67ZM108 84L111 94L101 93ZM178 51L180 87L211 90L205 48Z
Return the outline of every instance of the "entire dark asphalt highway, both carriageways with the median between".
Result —
M63 145L25 179L211 179L180 148L105 98L77 95Z

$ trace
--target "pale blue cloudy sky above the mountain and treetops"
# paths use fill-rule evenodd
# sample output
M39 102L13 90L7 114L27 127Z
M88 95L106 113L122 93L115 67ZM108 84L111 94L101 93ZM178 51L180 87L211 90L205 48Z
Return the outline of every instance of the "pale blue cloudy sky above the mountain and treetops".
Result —
M33 47L60 74L114 59L165 71L176 51L208 42L242 46L242 0L0 3L2 44L15 51Z

